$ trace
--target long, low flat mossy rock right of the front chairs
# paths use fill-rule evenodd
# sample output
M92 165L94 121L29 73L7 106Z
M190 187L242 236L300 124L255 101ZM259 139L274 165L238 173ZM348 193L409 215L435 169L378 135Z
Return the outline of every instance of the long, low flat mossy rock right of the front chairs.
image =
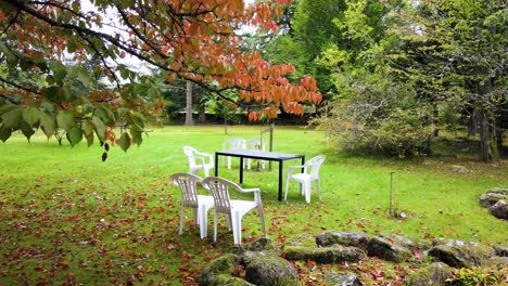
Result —
M366 257L364 250L356 247L333 245L331 247L287 247L285 258L289 260L313 260L318 263L358 262Z

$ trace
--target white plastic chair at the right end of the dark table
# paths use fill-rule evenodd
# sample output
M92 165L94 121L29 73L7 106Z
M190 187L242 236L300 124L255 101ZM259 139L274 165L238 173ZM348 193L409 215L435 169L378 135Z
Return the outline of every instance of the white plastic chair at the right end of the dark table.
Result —
M325 161L323 155L316 156L305 162L303 166L290 166L288 168L288 180L285 181L285 195L284 200L288 200L288 188L290 180L295 180L301 184L301 195L305 195L305 200L310 204L310 188L312 182L316 181L319 200L321 200L321 186L319 185L319 168ZM294 170L304 169L301 173L294 173Z

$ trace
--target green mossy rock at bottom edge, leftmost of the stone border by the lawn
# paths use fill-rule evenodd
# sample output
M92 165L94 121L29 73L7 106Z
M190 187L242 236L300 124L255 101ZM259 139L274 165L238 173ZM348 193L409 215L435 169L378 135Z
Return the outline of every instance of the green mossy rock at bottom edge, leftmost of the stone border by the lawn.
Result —
M198 280L200 286L213 286L213 285L223 285L221 283L226 283L230 281L229 277L232 278L232 273L234 268L242 263L242 258L237 255L225 255L217 259L212 260L208 266L206 266L202 272ZM228 282L229 283L229 282ZM228 284L234 285L234 284ZM244 284L236 284L236 285L244 285Z

